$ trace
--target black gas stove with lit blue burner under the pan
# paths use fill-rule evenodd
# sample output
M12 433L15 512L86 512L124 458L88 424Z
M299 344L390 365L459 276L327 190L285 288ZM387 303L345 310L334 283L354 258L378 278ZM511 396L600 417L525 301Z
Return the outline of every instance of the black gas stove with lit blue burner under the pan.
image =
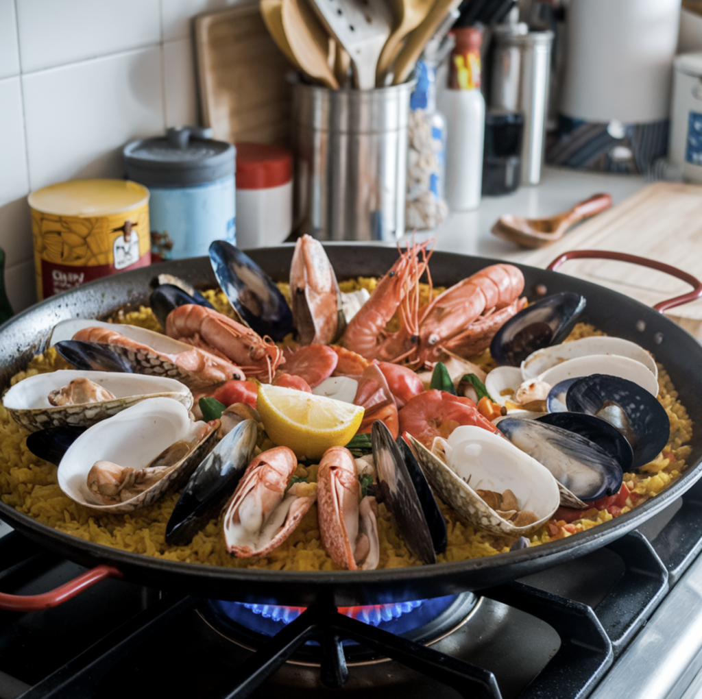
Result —
M0 590L84 571L3 526ZM691 699L702 686L702 484L608 547L514 583L336 610L105 580L0 612L0 699Z

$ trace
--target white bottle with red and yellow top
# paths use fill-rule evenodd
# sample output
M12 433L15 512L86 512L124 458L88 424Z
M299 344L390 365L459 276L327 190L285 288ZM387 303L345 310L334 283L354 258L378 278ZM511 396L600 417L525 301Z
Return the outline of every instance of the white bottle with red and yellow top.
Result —
M451 211L480 204L485 136L485 100L480 92L480 43L475 27L453 29L449 88L439 98L446 118L446 202Z

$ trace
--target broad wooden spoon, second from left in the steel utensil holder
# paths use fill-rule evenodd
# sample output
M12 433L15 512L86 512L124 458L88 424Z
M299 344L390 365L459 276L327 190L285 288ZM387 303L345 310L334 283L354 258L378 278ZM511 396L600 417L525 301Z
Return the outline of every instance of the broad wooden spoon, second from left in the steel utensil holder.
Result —
M282 0L285 36L298 65L307 75L333 90L339 84L329 67L329 34L305 0Z

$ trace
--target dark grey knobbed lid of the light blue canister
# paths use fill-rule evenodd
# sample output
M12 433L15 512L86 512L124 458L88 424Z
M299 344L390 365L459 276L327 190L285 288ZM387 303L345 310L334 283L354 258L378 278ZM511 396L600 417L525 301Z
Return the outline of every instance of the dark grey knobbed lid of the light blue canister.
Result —
M169 128L165 136L128 143L124 167L144 185L203 185L234 175L236 149L212 138L211 128Z

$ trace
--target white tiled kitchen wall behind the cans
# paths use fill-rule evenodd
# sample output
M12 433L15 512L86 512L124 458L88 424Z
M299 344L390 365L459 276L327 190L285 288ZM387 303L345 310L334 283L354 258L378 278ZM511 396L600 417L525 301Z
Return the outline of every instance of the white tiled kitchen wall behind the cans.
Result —
M251 0L0 0L0 247L34 303L27 194L122 177L121 147L199 122L192 19Z

